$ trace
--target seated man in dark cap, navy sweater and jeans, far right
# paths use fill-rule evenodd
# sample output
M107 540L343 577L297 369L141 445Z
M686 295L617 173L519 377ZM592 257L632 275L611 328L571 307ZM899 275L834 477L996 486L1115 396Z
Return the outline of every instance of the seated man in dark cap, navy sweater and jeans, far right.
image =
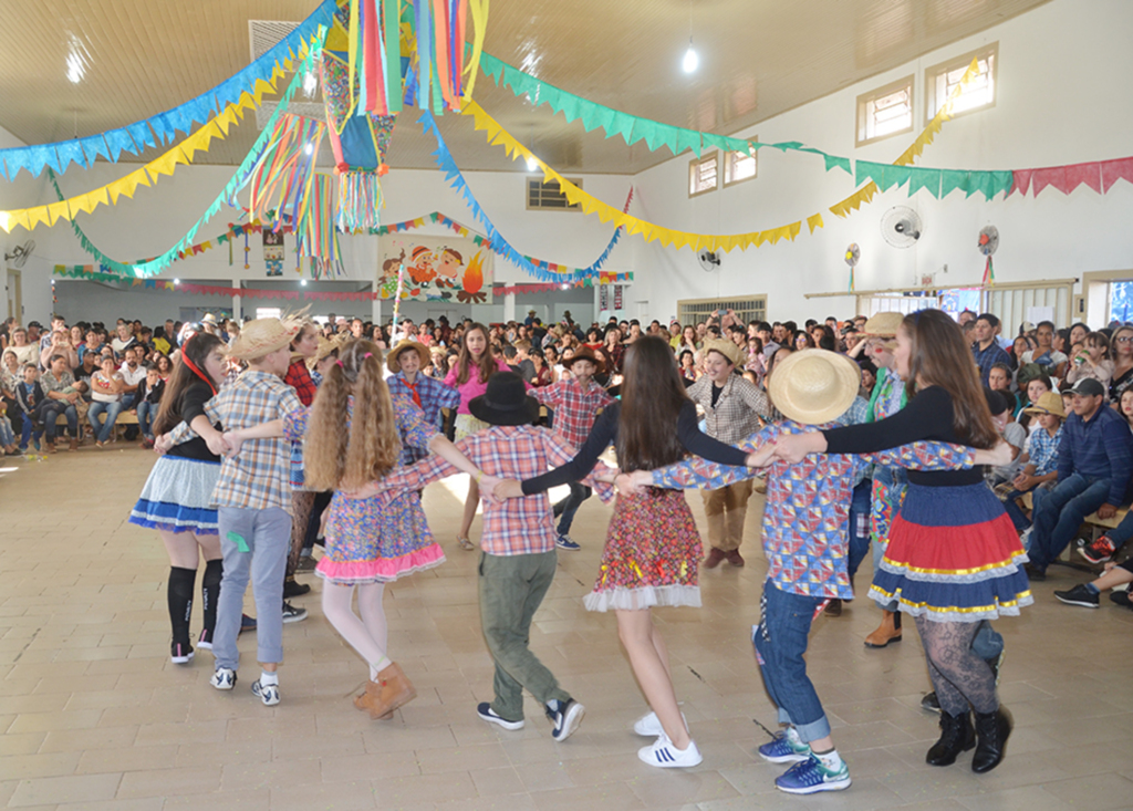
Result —
M1106 406L1106 389L1092 377L1074 389L1074 413L1058 445L1058 485L1036 498L1026 573L1046 580L1047 566L1074 538L1087 515L1109 519L1125 498L1133 472L1125 419ZM1038 496L1040 492L1036 493Z

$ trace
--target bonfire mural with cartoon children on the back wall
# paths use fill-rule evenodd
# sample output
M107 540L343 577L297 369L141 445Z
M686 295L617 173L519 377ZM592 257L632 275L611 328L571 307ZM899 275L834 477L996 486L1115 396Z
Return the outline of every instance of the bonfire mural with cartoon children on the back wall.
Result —
M467 237L385 234L378 241L378 290L383 299L392 299L398 291L398 268L404 265L402 299L489 304L492 261L486 245Z

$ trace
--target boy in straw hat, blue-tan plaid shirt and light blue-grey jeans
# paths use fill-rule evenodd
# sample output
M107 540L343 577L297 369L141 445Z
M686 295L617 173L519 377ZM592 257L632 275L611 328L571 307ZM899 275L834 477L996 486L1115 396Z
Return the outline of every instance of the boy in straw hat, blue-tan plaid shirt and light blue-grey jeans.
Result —
M205 404L211 421L236 430L282 419L303 408L295 390L283 382L291 361L291 340L300 328L297 318L259 318L244 327L229 355L246 360L248 368ZM176 445L191 433L181 422L159 449ZM263 665L252 692L269 707L280 702L276 669L283 660L283 572L291 540L290 450L280 438L249 441L240 455L221 462L213 490L224 579L216 601L216 669L211 683L218 690L236 685L240 664L236 638L250 577L256 598L256 654Z

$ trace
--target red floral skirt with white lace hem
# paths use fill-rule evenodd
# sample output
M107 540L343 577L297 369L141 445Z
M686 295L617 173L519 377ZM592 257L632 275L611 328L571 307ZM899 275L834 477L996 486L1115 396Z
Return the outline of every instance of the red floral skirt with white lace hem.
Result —
M619 495L587 611L699 606L700 533L680 490Z

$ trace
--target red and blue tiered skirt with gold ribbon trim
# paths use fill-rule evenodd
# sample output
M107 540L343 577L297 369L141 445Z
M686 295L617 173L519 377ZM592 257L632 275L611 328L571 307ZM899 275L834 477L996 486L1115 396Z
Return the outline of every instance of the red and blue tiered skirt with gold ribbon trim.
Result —
M1034 601L1026 553L986 484L909 485L869 596L936 622L1016 615Z

